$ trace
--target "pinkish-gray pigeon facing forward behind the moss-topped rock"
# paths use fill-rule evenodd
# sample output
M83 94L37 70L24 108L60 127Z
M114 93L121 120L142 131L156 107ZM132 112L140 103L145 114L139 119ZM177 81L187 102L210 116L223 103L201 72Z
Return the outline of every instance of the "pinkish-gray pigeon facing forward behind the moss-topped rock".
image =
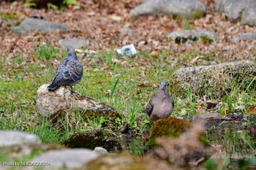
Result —
M151 120L158 120L169 117L173 107L173 98L168 94L166 82L162 81L156 96L148 101L145 112Z

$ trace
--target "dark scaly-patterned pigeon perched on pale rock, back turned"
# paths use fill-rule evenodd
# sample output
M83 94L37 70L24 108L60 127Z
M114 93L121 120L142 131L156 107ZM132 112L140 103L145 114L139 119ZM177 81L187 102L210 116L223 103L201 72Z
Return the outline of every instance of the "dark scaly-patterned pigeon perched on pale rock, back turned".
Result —
M56 70L53 82L48 86L49 90L56 90L61 85L69 85L71 91L73 87L82 80L83 65L78 61L74 47L67 47L67 58L62 61Z

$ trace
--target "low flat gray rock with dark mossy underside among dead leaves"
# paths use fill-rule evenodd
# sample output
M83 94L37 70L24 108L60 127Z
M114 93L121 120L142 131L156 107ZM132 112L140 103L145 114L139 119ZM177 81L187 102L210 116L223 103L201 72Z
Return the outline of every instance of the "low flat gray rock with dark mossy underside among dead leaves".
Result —
M200 39L201 37L207 37L212 41L217 41L219 37L212 31L206 30L181 30L181 31L173 31L171 34L167 35L168 38L173 40L181 41L182 39Z

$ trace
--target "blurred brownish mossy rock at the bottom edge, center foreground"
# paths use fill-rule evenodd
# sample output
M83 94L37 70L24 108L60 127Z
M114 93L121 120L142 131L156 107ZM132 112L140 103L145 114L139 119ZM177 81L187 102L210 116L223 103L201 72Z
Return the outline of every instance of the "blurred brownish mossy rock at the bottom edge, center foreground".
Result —
M166 169L170 166L165 161L159 161L155 158L145 158L131 155L129 152L121 152L116 155L102 155L99 158L90 161L82 170L149 170L149 169Z

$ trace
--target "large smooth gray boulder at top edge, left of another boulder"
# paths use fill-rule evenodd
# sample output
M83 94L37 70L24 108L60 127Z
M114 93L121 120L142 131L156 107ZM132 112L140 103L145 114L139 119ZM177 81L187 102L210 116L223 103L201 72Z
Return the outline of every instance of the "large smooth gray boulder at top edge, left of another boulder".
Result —
M206 6L198 0L150 0L132 9L132 16L171 15L179 18L199 18L205 12Z

